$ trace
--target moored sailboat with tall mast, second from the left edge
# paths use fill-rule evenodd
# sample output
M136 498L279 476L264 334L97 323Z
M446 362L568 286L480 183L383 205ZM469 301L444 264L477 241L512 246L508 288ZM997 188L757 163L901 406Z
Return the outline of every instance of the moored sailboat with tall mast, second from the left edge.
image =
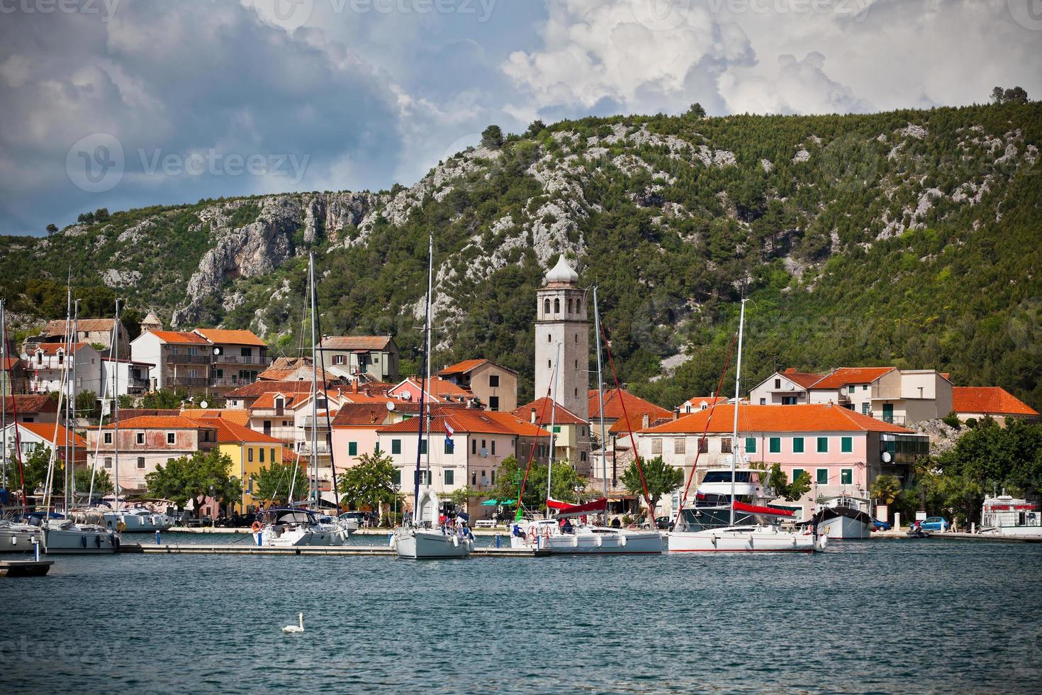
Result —
M75 480L75 449L72 442L72 429L70 429L71 413L73 408L71 402L75 402L75 369L76 369L76 334L79 328L79 301L76 302L75 315L72 313L72 288L69 289L69 307L66 319L66 349L65 359L72 359L72 370L69 363L65 363L61 370L60 390L58 392L58 413L60 418L55 419L53 446L47 465L47 477L44 483L44 506L41 528L44 535L44 552L53 554L105 554L113 553L119 548L119 536L105 525L104 514L100 510L84 510L73 512L69 504L69 495L72 490L72 480ZM119 300L116 302L117 326L119 325ZM117 328L118 331L118 328ZM70 378L72 371L72 378ZM64 406L64 408L63 408ZM65 506L64 517L51 518L51 491L54 481L54 464L58 453L58 423L63 419L65 422ZM118 474L118 472L117 472ZM118 492L118 489L117 489Z

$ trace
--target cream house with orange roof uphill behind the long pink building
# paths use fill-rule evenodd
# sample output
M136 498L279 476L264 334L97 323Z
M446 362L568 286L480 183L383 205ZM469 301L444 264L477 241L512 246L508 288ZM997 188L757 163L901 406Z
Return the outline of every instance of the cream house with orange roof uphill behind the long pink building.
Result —
M810 389L812 403L836 403L898 425L951 413L951 381L936 370L841 367Z

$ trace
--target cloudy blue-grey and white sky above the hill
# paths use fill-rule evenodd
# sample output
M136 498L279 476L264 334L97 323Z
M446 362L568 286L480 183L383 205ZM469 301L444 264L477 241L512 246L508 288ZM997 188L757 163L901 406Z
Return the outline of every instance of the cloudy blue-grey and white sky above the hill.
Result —
M0 0L0 233L410 184L490 123L1042 93L1042 0Z

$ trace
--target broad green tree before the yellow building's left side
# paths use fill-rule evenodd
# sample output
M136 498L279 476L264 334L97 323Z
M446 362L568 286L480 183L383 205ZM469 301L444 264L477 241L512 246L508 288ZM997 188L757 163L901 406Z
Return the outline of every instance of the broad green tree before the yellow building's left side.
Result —
M145 485L149 495L169 499L177 506L191 501L196 517L207 496L224 505L238 501L243 493L242 481L231 476L231 457L220 449L194 451L166 466L159 464L145 475Z

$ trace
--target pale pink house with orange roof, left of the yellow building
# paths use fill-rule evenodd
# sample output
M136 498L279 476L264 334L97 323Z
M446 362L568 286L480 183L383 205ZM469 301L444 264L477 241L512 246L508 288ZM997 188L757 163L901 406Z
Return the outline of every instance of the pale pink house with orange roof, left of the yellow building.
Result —
M86 440L91 465L107 472L115 485L116 425L89 429ZM120 493L143 494L145 476L156 466L215 448L217 424L180 416L142 416L120 420L118 442Z

